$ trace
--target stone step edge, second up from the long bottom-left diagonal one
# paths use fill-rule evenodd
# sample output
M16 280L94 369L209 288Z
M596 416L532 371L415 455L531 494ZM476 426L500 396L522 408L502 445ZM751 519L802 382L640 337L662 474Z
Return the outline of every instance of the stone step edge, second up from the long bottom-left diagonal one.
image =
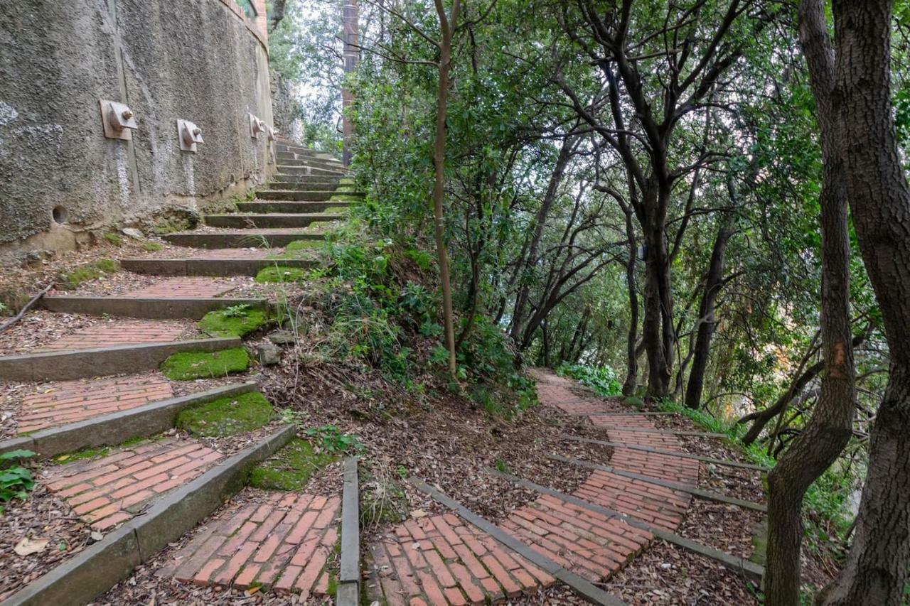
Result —
M230 398L258 389L256 381L233 383L197 393L161 399L135 409L119 410L92 419L39 429L24 436L0 441L0 453L32 450L38 459L66 452L121 444L127 439L154 436L174 427L177 413L195 404Z

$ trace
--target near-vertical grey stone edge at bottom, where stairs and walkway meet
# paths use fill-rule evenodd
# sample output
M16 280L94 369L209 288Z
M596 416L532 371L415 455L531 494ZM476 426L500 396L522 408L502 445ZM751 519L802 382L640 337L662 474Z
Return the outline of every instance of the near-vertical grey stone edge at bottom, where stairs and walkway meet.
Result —
M358 606L360 603L360 494L357 457L344 462L341 490L341 556L336 606Z

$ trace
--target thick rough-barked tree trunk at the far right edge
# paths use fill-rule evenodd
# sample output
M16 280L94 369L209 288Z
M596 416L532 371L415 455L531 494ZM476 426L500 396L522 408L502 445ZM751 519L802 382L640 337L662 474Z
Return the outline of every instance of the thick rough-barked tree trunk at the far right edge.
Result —
M834 0L833 9L847 193L891 363L853 545L819 601L896 605L910 566L910 191L890 96L892 2Z

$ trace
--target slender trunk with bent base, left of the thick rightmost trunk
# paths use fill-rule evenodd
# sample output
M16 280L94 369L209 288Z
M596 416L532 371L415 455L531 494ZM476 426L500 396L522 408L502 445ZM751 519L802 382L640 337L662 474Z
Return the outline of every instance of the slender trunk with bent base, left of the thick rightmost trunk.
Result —
M824 23L824 0L803 0L800 40L816 97L823 177L822 312L824 356L821 391L812 419L768 474L768 546L765 601L798 606L805 490L828 469L850 439L855 414L854 360L850 334L850 236L847 192L834 105L833 56Z

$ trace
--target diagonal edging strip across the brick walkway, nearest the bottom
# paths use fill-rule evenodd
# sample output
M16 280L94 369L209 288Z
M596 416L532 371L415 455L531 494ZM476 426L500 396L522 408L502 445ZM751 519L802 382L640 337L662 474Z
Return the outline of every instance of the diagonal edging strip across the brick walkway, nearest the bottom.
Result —
M624 606L624 601L607 591L603 591L601 588L591 583L591 581L586 581L574 572L562 568L555 561L552 561L550 558L531 549L531 547L521 542L521 540L511 536L511 534L505 530L501 530L500 527L490 522L490 520L480 517L480 515L461 505L460 502L452 499L441 490L430 486L427 482L420 480L420 478L410 478L408 481L415 488L430 495L433 500L445 505L450 510L455 511L461 518L467 520L470 524L476 526L480 530L483 530L502 545L517 552L525 560L530 561L558 581L562 581L568 585L570 589L577 593L581 598L590 601L593 604L602 604L603 606Z

